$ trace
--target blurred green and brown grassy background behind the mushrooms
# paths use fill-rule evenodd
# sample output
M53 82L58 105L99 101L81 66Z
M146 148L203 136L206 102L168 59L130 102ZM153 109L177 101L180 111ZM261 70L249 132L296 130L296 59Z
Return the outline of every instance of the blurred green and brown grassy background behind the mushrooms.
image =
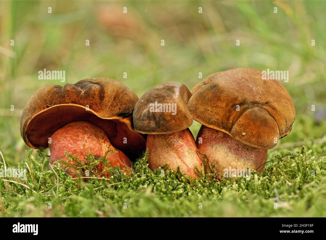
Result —
M289 70L281 83L297 115L275 149L325 141L325 12L325 1L0 1L0 148L11 165L26 156L20 117L43 85L109 77L140 97L158 83L191 89L238 67ZM44 68L65 70L66 82L39 80ZM191 126L195 136L199 128Z

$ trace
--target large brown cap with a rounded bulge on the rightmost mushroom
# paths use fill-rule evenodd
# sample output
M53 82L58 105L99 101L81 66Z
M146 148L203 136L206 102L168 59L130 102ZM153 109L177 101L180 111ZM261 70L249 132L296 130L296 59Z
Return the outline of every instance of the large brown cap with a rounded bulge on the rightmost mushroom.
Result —
M188 109L196 121L246 145L271 149L291 131L295 117L291 96L277 80L263 80L259 70L213 73L191 93Z

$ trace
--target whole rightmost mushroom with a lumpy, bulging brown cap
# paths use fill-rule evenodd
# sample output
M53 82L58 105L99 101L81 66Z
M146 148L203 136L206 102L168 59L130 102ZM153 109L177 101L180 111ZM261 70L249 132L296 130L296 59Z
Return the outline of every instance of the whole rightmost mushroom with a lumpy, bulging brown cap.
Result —
M216 172L261 171L267 149L291 131L295 109L285 87L262 72L235 68L211 74L192 90L188 110L202 124L197 148Z

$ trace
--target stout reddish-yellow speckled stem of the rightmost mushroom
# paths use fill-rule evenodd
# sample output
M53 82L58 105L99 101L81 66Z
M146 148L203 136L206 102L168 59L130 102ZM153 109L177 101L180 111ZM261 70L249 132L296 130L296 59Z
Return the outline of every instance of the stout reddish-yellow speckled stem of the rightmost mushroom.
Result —
M231 169L257 169L266 162L267 150L247 146L230 135L201 126L196 140L197 148L203 152L208 163L215 166L216 173ZM265 165L259 167L260 172Z

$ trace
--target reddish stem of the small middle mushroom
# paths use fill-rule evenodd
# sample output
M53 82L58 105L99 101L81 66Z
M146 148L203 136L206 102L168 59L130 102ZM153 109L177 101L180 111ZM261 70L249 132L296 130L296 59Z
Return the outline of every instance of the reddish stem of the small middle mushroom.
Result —
M192 178L200 177L195 165L197 164L199 170L203 165L189 128L172 134L147 135L146 148L149 148L150 169L154 170L168 163L168 169L176 170L180 166L182 173L187 173Z

